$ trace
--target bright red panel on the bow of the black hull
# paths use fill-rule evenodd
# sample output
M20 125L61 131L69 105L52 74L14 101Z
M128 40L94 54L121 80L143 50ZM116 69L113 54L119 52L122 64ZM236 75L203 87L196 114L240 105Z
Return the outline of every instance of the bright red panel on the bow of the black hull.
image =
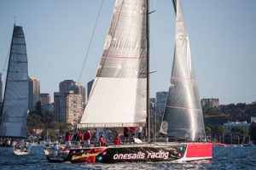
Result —
M212 144L211 143L195 143L188 144L187 157L208 157L212 156Z

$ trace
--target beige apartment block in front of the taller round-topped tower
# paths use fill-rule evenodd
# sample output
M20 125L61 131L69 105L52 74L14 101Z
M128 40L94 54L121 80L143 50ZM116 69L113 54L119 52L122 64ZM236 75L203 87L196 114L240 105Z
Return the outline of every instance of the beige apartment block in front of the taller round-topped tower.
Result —
M64 122L76 124L80 121L84 112L84 99L82 94L74 94L73 91L65 94L65 113L66 119Z

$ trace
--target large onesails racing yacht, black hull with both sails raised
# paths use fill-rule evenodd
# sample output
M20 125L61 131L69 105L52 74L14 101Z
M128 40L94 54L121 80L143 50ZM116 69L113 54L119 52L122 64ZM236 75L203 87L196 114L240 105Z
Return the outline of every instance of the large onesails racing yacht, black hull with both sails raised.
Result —
M79 128L146 127L149 137L148 3L149 0L116 0L102 59ZM152 142L148 138L148 142L141 144L71 148L65 161L115 163L212 159L212 143L196 142L205 139L204 122L181 2L177 0L173 4L177 17L176 46L172 85L160 132L166 138L179 139L179 142Z

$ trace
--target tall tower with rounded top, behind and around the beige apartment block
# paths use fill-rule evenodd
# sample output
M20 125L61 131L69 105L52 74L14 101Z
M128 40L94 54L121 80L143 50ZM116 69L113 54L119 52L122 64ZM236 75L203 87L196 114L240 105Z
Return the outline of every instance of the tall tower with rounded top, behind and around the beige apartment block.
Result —
M82 85L80 85L78 82L74 82L73 80L65 80L63 82L60 82L59 95L56 95L56 99L55 99L55 121L57 122L66 121L66 117L67 117L67 108L65 108L67 105L66 95L69 94L70 91L73 91L73 94L79 94L81 96L81 99L83 100L81 107L84 107L85 88Z

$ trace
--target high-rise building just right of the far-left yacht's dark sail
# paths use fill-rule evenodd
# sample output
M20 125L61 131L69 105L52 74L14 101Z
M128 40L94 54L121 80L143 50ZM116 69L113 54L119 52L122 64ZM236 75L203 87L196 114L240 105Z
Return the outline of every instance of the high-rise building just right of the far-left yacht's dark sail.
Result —
M29 77L28 109L34 110L39 100L40 100L40 80L36 77Z

